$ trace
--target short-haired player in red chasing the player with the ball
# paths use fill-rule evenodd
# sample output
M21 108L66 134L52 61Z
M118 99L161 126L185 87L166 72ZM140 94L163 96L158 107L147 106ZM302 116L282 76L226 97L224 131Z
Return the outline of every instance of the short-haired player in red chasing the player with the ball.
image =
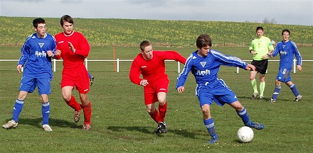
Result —
M144 103L151 118L158 124L156 134L166 133L164 122L166 113L166 93L169 79L165 74L164 60L176 60L185 64L186 58L175 51L154 51L151 42L144 40L140 44L141 53L134 58L129 71L132 83L144 86ZM142 74L142 78L140 78ZM159 101L159 111L154 103Z

